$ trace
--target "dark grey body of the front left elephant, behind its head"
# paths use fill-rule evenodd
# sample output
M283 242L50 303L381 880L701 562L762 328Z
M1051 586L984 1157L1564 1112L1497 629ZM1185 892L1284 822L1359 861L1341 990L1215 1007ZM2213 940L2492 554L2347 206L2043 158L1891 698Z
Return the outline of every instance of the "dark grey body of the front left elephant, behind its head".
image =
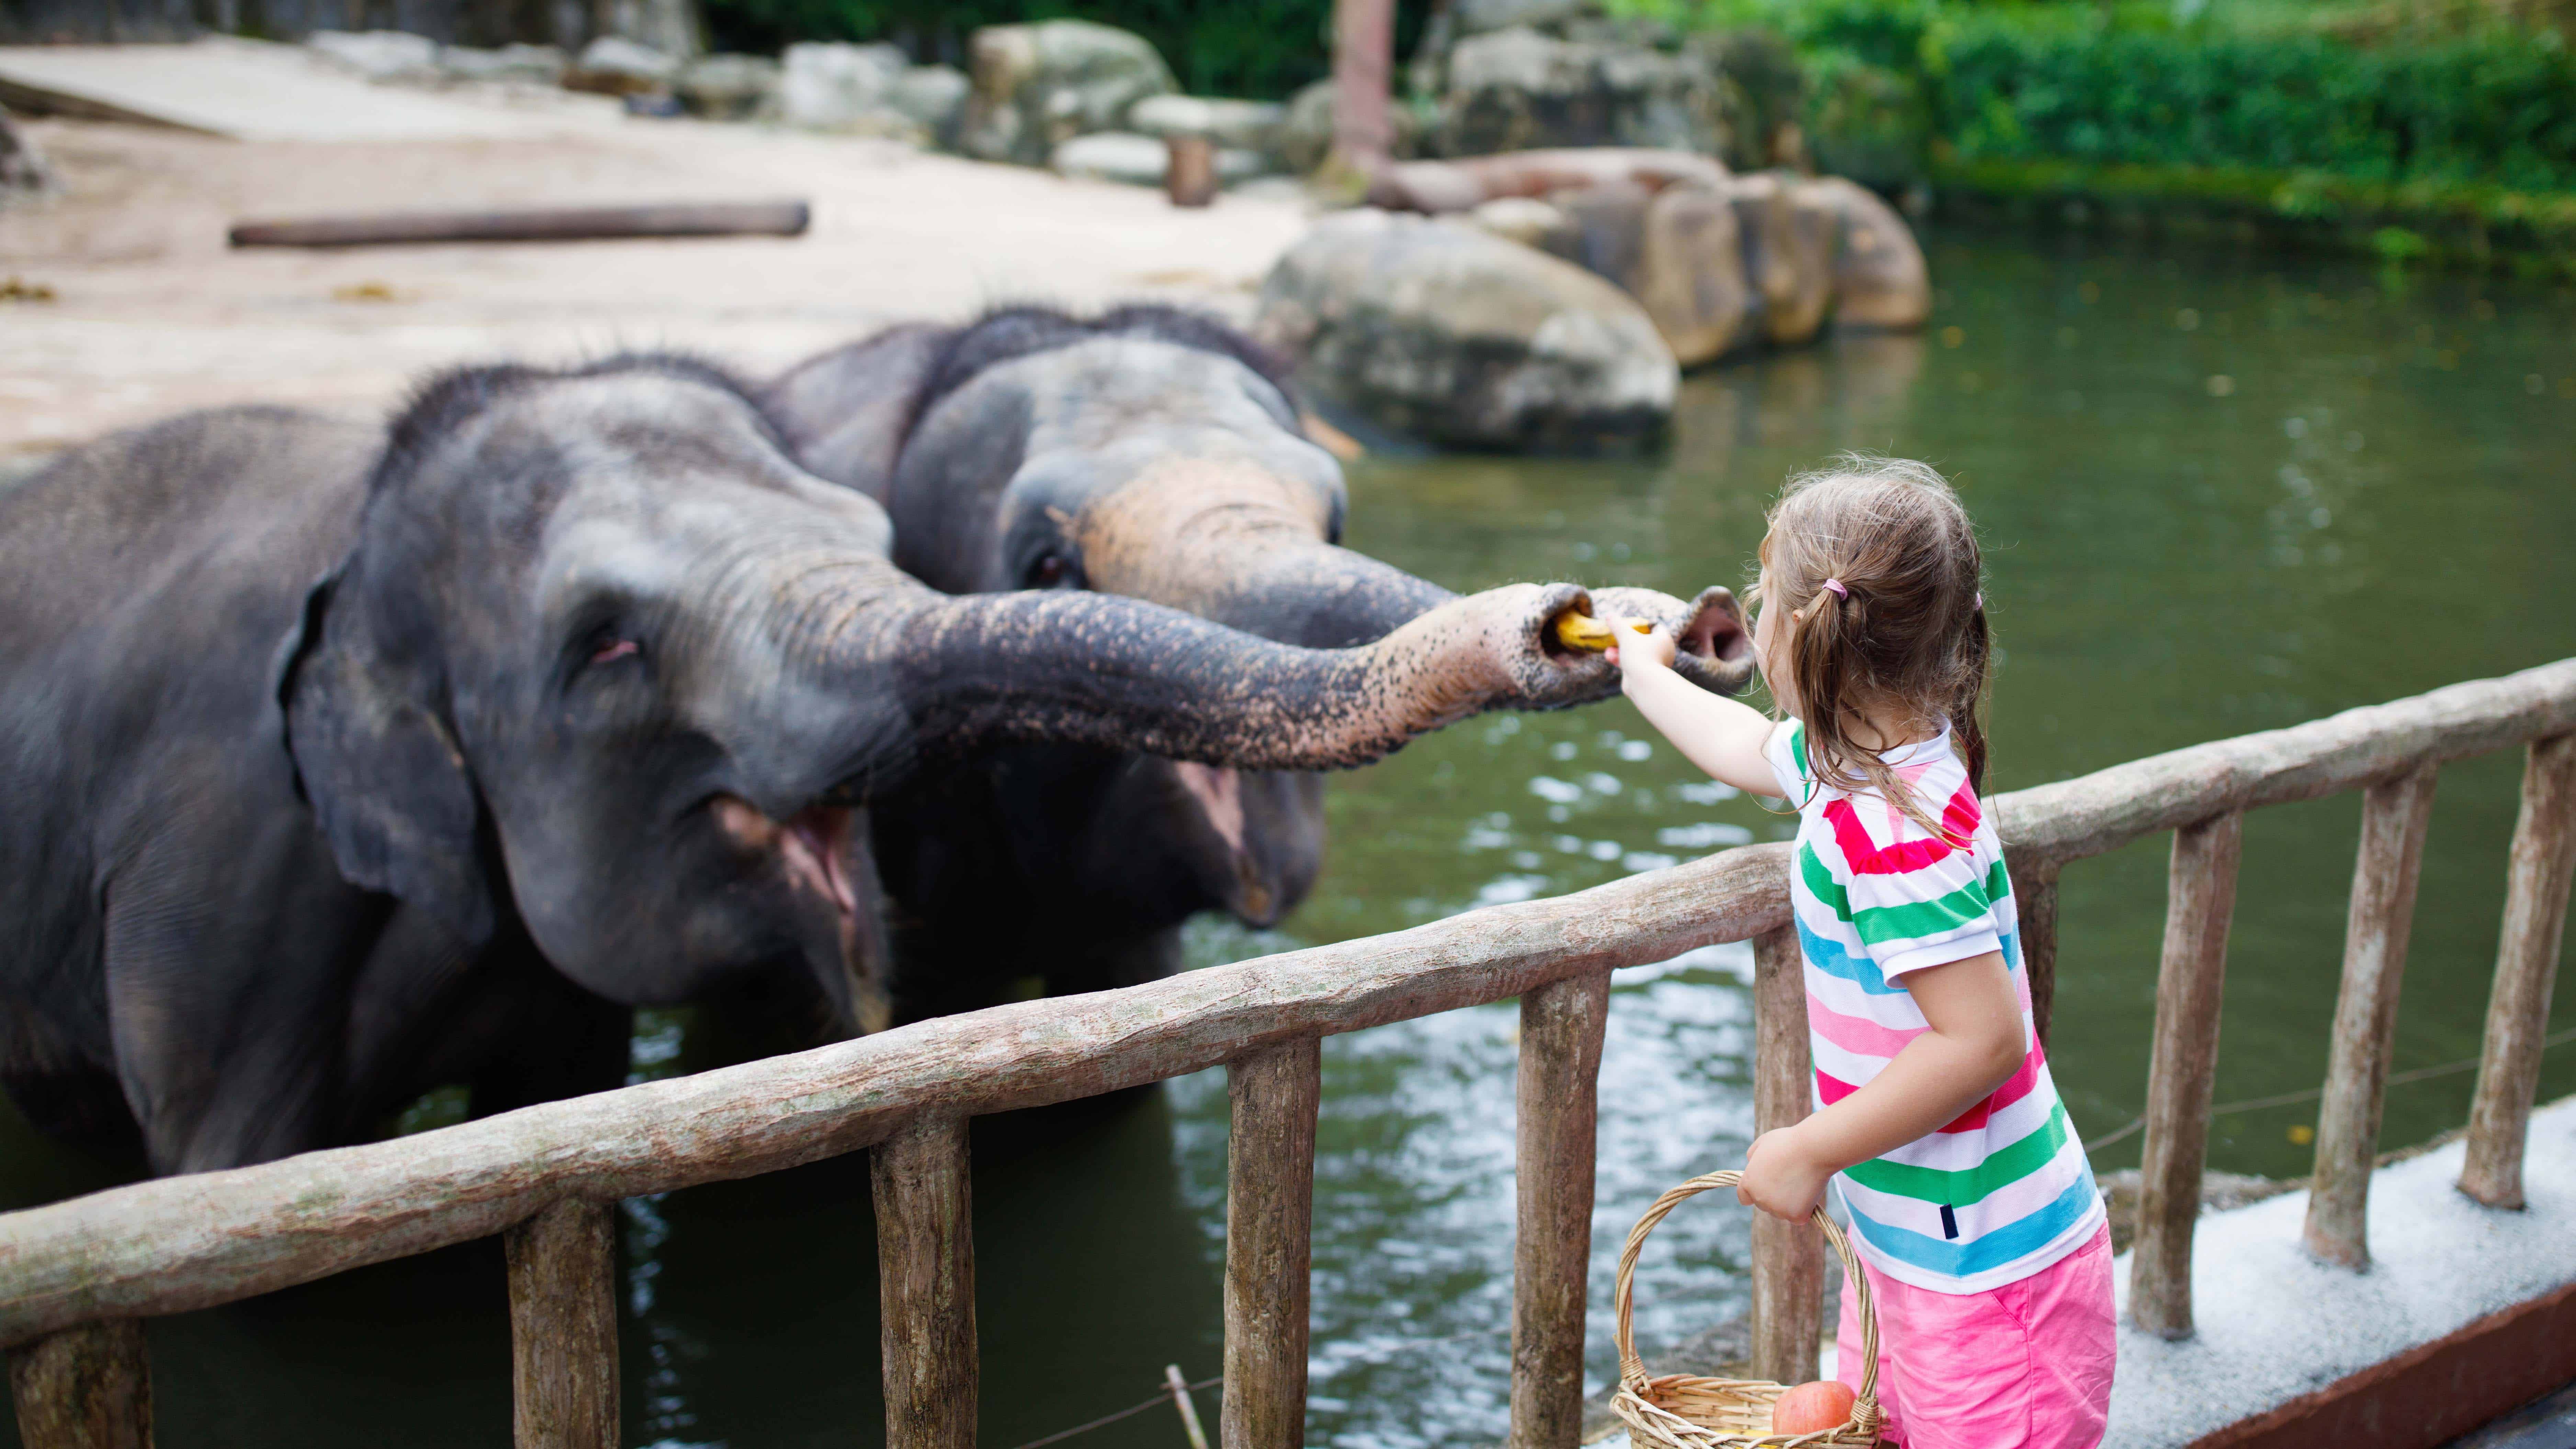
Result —
M299 799L276 655L355 541L381 441L206 413L0 495L0 1073L44 1127L142 1122L157 1160L222 1165L345 1140L438 1080L492 1070L500 1101L536 1065L505 1029L538 1018L559 1065L623 1057L613 1013L523 941L469 951L340 879Z

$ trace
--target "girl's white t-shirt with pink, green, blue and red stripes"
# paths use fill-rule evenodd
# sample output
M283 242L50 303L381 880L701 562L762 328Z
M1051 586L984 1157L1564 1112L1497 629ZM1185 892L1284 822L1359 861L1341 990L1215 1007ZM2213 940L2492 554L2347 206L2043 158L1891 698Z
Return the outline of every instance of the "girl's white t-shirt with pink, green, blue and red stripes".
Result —
M1922 810L1937 812L1947 841L1878 792L1819 784L1795 719L1772 730L1765 755L1798 804L1790 905L1806 957L1819 1109L1929 1031L1906 972L2002 951L2022 998L2022 1070L1940 1132L1834 1176L1860 1256L1891 1279L1971 1294L2074 1253L2105 1222L2102 1194L2030 1021L2004 846L1950 732L1880 755Z

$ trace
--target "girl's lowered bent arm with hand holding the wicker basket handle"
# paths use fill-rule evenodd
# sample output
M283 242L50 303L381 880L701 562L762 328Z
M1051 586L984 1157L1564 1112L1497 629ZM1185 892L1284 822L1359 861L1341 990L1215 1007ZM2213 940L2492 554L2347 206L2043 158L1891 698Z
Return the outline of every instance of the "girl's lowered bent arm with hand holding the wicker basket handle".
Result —
M1754 1137L1736 1201L1806 1222L1826 1178L1940 1132L2022 1067L2022 1000L1999 951L1906 972L1904 985L1929 1029L1852 1096Z

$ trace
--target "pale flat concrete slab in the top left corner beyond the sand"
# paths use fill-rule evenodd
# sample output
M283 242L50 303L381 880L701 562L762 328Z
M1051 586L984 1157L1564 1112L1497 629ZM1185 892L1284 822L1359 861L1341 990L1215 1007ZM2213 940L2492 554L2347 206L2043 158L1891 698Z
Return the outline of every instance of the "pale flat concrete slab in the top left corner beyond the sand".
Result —
M559 137L613 124L600 98L528 106L368 85L304 46L214 36L183 46L0 46L0 101L237 142L443 142Z

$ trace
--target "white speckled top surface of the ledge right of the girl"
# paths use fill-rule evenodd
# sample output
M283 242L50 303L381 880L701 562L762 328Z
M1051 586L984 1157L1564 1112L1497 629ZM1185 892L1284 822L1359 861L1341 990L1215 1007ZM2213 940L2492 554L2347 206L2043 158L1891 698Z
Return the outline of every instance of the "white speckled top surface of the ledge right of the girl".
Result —
M2164 1343L2123 1328L2105 1444L2202 1441L2576 1284L2576 1101L2532 1114L2522 1212L2494 1212L2452 1189L2463 1150L2452 1142L2380 1168L2365 1274L2329 1269L2298 1245L2306 1191L2202 1217L2192 1248L2200 1333ZM2125 1253L2117 1281L2125 1315Z

